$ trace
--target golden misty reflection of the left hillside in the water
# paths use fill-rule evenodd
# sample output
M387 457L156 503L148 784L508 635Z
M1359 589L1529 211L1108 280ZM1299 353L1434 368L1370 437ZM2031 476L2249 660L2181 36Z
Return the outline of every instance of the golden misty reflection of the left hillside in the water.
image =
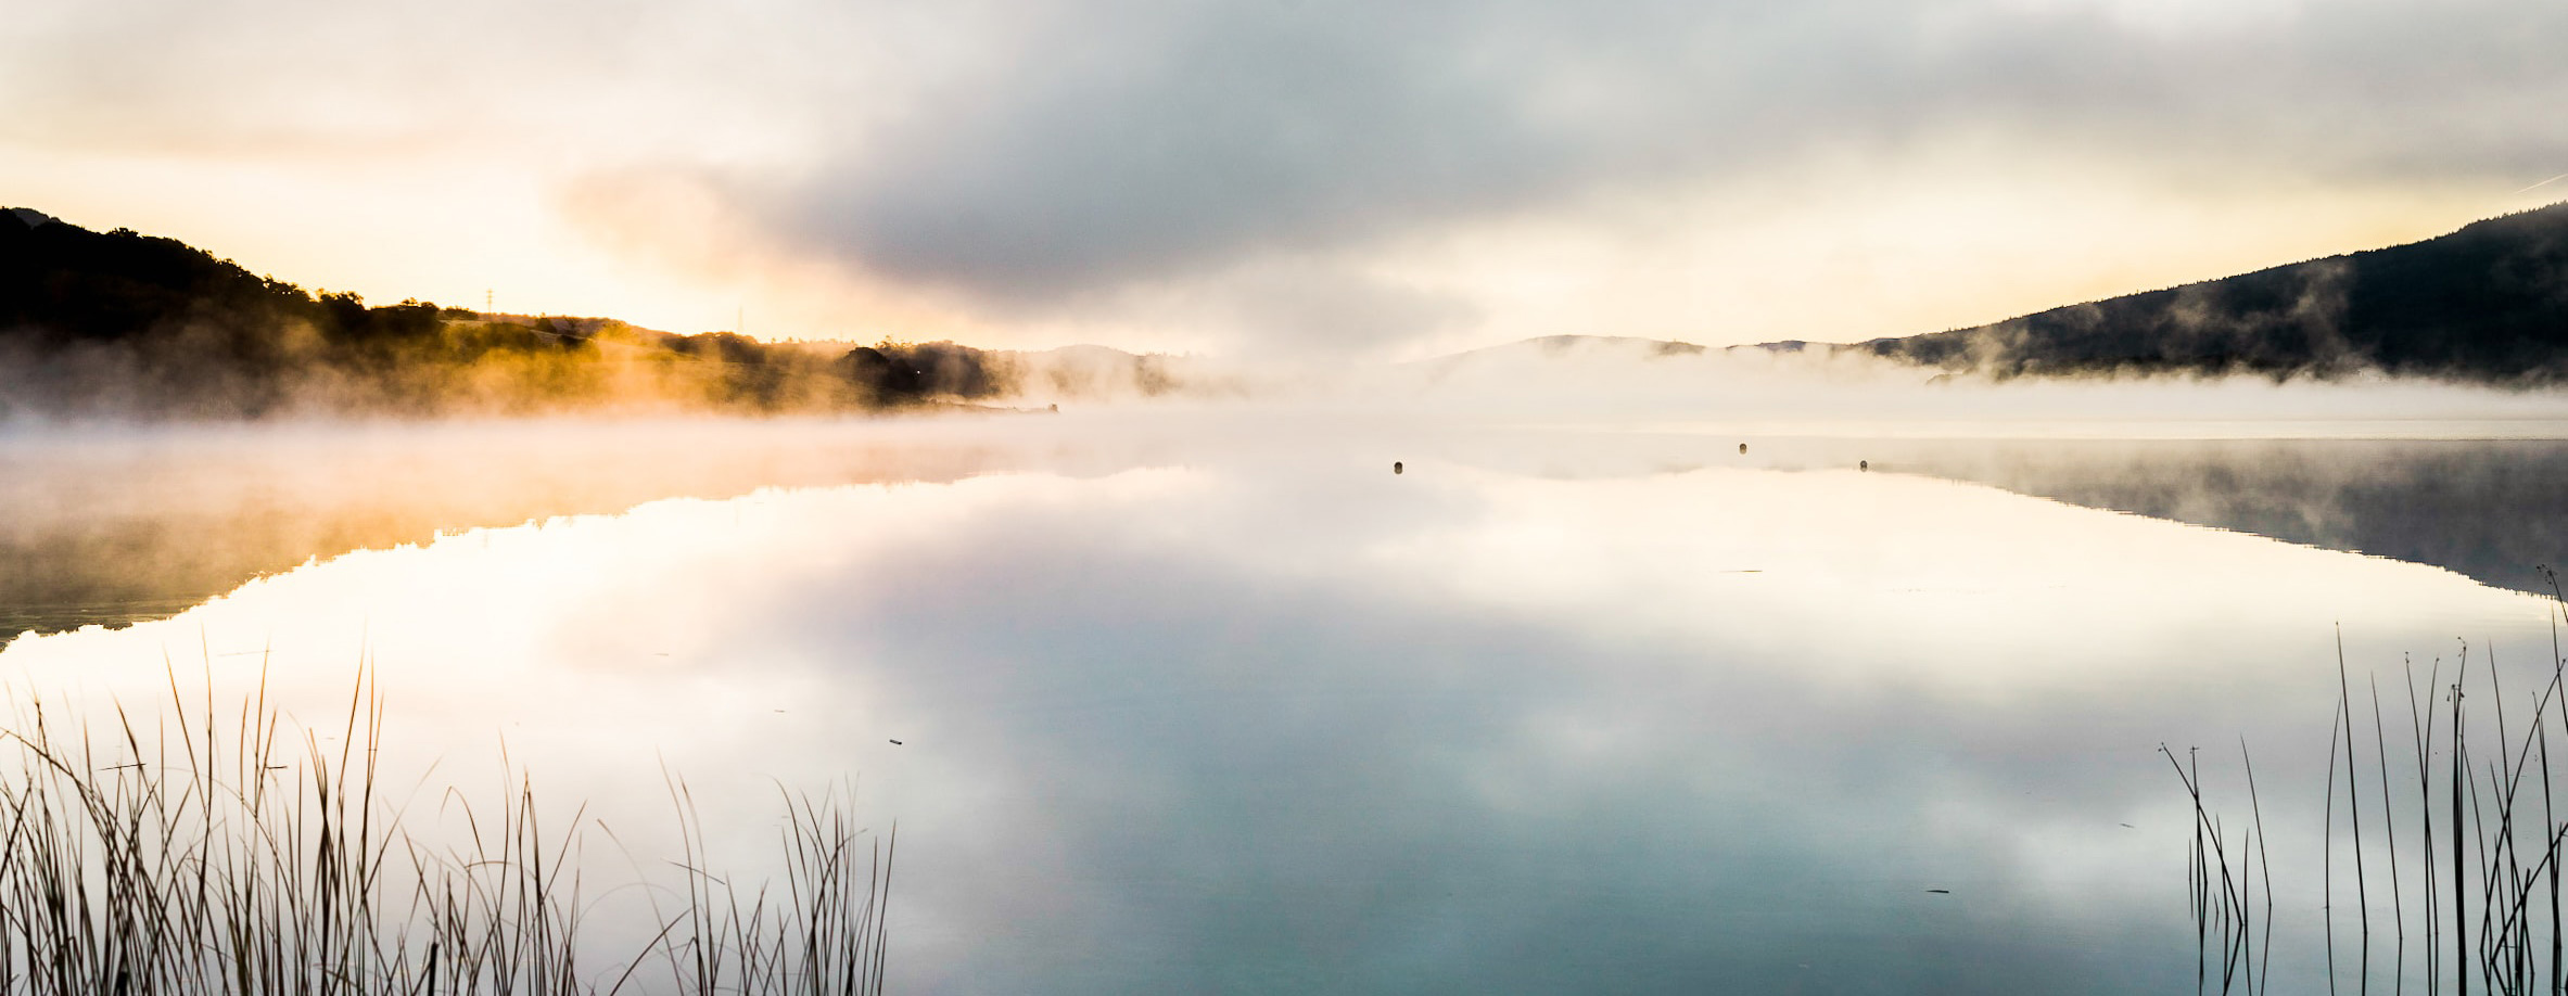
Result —
M442 531L758 488L955 480L1004 434L899 424L339 426L0 442L0 644L164 619L254 578Z

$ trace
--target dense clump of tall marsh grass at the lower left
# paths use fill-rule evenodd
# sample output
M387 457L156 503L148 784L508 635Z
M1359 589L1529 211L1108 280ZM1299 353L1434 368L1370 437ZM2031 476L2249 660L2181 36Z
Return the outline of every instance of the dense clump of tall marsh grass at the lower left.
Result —
M683 888L639 891L655 934L588 963L583 811L547 829L524 773L437 806L460 834L403 832L377 786L383 703L360 675L339 729L288 729L265 683L234 716L177 680L108 732L28 698L0 729L0 993L778 993L883 988L894 839L850 798L786 796L781 880L704 870L704 827L670 778ZM334 742L334 747L331 747ZM637 873L639 878L639 873ZM603 896L603 893L601 893Z

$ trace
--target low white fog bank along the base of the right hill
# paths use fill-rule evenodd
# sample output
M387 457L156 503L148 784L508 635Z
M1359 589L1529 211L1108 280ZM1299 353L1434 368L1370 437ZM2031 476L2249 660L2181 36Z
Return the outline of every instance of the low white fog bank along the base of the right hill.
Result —
M2378 372L2329 380L1995 380L1831 347L1703 349L1587 336L1366 370L1343 385L1305 385L1305 393L1351 408L1520 421L1705 421L1749 431L2339 436L2419 424L2396 434L2568 434L2568 390L2558 388L2486 388Z

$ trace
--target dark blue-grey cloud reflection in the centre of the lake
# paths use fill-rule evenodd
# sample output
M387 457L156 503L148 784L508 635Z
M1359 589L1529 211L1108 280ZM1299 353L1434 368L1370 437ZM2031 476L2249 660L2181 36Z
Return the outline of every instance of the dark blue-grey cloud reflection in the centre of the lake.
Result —
M1369 539L1361 526L1351 534ZM1918 893L1792 847L1790 829L1808 829L1792 824L1826 806L1826 793L1795 778L1805 773L1790 760L1759 783L1767 765L1690 714L1695 688L1674 688L1674 708L1636 703L1638 688L1610 673L1615 660L1577 639L1420 601L1397 580L1346 578L1364 565L1343 565L1317 590L1279 590L1261 572L1171 565L1171 547L1120 539L1040 552L1035 578L1040 565L1107 565L1122 585L1017 585L1002 598L1035 614L1017 631L945 608L955 590L991 598L1025 578L1022 557L999 547L855 626L899 619L917 644L894 657L963 667L942 683L973 693L945 711L986 724L963 737L1012 744L1007 762L1048 786L1055 811L1035 824L1068 809L1112 832L1192 803L1192 827L1112 832L1066 883L1086 898L1099 945L1156 937L1161 957L1186 952L1179 968L1204 973L1171 988L1217 983L1215 965L1418 988L1418 975L1366 970L1389 970L1443 932L1461 932L1456 945L1469 950L1436 973L1456 991L1595 981L1633 963L1672 981L1741 981L1792 968L1762 957L1823 955L1823 940L1846 927L1834 919L1870 911L1846 898ZM1102 634L1043 642L1081 629ZM1017 680L1076 691L1066 701L1002 691L1002 708L978 693ZM1780 691L1764 708L1810 714L1792 688L1741 691ZM1600 724L1600 711L1615 719ZM1705 778L1705 765L1731 773ZM1875 837L1867 824L1844 832ZM1243 919L1269 927L1243 932ZM1274 929L1289 937L1258 937ZM1798 947L1746 942L1777 934ZM1320 965L1343 975L1307 975Z

